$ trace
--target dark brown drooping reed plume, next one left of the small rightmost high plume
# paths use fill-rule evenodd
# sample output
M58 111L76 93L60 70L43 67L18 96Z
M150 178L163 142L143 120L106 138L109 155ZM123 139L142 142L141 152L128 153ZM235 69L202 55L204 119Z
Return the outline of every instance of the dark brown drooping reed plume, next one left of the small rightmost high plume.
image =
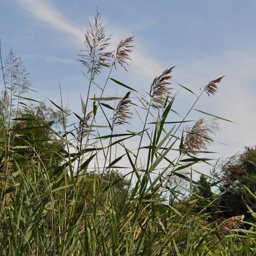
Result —
M168 87L172 78L171 71L174 67L165 69L163 73L157 77L155 77L153 83L150 88L150 95L152 97L151 106L155 109L159 109L164 106L166 97L171 94L171 89Z

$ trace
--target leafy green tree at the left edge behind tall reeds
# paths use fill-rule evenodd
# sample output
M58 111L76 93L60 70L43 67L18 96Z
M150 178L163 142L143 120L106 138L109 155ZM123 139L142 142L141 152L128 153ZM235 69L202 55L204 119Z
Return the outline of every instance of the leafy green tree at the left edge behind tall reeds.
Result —
M3 95L0 102L3 102ZM63 124L62 113L60 110L54 110L41 102L37 105L25 105L19 102L23 108L17 110L13 105L13 113L10 118L10 126L8 127L8 113L4 104L0 105L2 114L0 122L0 160L3 163L6 153L8 129L10 130L10 160L12 168L15 169L13 161L20 164L22 168L29 167L32 157L34 160L40 158L46 167L51 168L60 165L59 152L63 150L63 141L57 139L55 134L49 129L60 130ZM9 113L10 114L10 113ZM64 121L65 122L65 121ZM29 162L27 161L30 158ZM49 161L50 160L50 161ZM26 163L26 164L25 164ZM49 165L50 164L50 165ZM49 166L48 166L49 165ZM2 164L3 167L3 164ZM0 169L1 166L0 166Z

